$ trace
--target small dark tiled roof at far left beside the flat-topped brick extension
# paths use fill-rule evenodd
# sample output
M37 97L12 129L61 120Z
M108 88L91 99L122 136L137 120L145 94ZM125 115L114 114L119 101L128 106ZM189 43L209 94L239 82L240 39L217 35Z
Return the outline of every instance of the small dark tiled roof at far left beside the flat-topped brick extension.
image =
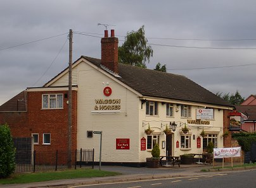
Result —
M18 93L15 97L0 106L0 112L23 112L27 111L27 91Z

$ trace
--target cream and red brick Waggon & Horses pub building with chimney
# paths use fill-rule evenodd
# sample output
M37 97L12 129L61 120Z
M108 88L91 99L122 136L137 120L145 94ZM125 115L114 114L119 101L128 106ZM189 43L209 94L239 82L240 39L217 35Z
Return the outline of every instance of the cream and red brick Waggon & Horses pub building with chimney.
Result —
M202 154L209 141L223 148L224 112L232 109L185 76L118 63L114 30L101 38L101 59L81 56L72 64L72 150L94 148L98 162L99 134L93 131L102 131L103 165L144 166L156 143L162 156ZM34 137L34 150L67 150L68 68L4 103L0 117L13 137Z

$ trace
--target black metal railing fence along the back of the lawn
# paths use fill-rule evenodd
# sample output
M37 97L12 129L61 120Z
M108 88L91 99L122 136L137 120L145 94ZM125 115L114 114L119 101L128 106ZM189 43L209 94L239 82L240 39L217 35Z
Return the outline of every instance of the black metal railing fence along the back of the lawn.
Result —
M94 149L75 151L19 151L15 172L35 172L63 168L94 168Z

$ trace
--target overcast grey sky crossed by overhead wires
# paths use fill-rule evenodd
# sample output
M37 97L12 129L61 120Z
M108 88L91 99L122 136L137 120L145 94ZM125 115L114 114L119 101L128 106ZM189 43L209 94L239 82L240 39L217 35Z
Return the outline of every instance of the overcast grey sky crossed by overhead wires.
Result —
M255 49L191 49L151 45L153 57L147 67L157 62L167 69L232 68L169 70L182 74L216 93L235 93L243 97L256 94L256 1L10 1L0 0L0 105L31 86L42 86L68 66L67 34L74 32L102 37L106 23L115 35L145 26L151 44L217 48ZM32 44L4 49L42 38ZM171 40L153 39L225 39ZM124 37L118 37L124 40ZM255 40L228 40L255 39ZM57 56L61 47L60 54ZM119 41L122 45L122 41ZM100 38L74 33L73 61L80 56L101 58ZM53 62L51 68L49 66ZM49 70L44 74L46 69ZM42 76L44 74L44 76ZM41 78L42 76L42 78ZM41 78L39 81L38 79ZM38 81L38 82L37 82ZM36 83L37 82L37 83ZM36 84L35 84L36 83ZM200 93L198 93L200 95Z

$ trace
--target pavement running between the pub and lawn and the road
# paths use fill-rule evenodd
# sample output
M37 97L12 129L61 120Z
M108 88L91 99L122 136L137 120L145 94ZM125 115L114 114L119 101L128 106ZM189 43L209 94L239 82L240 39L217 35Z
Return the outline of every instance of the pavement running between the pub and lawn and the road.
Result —
M233 165L240 165L234 163ZM224 164L225 167L231 167L231 164ZM222 167L222 163L215 163L214 167ZM94 167L98 169L98 167ZM208 172L202 172L205 169ZM196 175L209 175L215 173L237 172L238 170L252 170L256 167L247 168L220 168L213 169L212 165L205 164L193 164L193 165L181 165L181 167L170 165L169 167L160 168L146 168L146 167L120 167L120 166L101 166L101 170L120 172L122 175L111 177L94 177L94 178L82 178L82 179L65 179L65 180L53 180L49 182L35 182L30 184L8 184L0 185L0 187L10 188L31 188L31 187L72 187L75 185L89 185L89 184L103 184L111 182L129 182L135 180L149 180L149 179L166 179L171 177L184 177L184 176L196 176Z

